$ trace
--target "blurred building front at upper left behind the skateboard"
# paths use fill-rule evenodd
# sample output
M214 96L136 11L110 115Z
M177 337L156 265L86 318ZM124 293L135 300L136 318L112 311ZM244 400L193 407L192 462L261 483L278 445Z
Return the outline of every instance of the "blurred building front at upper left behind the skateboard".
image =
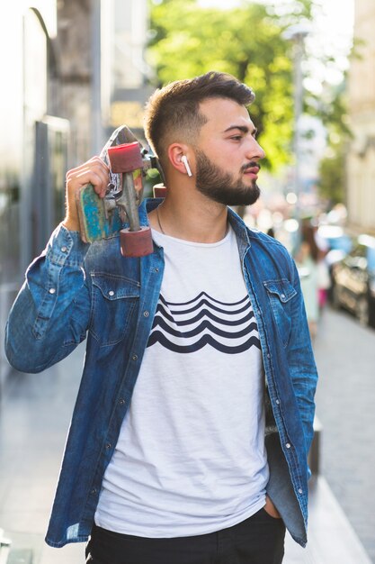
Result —
M141 132L147 0L28 0L0 18L0 340L25 268L65 214L68 168ZM8 79L6 79L8 77ZM0 345L0 396L8 370Z

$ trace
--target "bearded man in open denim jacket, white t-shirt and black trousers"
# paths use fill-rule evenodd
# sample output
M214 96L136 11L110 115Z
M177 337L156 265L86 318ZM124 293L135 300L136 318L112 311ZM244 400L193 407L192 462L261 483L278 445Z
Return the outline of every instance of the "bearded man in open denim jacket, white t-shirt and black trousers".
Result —
M46 541L93 564L276 564L285 526L306 544L317 371L299 277L250 205L264 152L252 90L210 72L151 96L146 134L165 200L140 208L154 253L83 243L74 195L108 168L67 173L67 218L26 274L10 362L40 371L85 339L85 368Z

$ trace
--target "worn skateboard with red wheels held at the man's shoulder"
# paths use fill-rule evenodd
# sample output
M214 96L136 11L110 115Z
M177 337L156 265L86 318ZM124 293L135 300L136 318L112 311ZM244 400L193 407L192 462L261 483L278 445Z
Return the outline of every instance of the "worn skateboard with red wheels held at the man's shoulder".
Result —
M81 239L93 242L120 232L122 256L144 257L151 254L151 229L140 226L138 205L147 171L157 168L163 178L158 160L142 147L126 125L121 125L112 133L100 157L111 169L110 183L103 198L95 193L91 184L77 191ZM165 196L165 186L154 188L155 196ZM123 223L127 222L129 227L122 229Z

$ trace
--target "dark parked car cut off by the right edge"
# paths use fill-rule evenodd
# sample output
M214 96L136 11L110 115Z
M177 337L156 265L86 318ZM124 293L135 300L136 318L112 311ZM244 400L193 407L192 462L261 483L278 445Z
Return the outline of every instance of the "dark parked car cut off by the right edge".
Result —
M353 250L333 265L332 278L333 305L375 327L375 237L358 237Z

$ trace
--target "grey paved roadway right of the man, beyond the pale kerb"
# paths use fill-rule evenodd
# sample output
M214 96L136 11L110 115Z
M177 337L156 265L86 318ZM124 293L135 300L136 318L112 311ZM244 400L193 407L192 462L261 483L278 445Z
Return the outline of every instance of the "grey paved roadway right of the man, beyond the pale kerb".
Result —
M375 330L328 309L315 351L321 473L375 562Z

